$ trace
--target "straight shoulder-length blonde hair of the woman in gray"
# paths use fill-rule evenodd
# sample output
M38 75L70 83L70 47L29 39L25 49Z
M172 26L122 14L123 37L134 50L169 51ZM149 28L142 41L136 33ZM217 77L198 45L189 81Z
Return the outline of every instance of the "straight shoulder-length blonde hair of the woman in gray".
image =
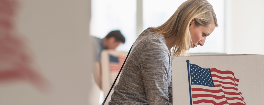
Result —
M214 23L217 27L217 19L213 7L207 0L187 0L182 3L175 13L164 24L151 27L150 32L159 32L166 39L176 36L173 46L174 56L186 56L186 51L192 47L192 39L189 31L189 23L194 19L197 26L208 26Z

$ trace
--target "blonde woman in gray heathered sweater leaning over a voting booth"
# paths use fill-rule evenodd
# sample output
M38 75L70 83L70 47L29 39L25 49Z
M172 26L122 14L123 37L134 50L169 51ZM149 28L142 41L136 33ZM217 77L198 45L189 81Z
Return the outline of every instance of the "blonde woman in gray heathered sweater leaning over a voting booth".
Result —
M189 48L203 46L217 26L210 3L188 0L167 22L143 31L131 48L109 105L171 105L170 49L175 56L186 56Z

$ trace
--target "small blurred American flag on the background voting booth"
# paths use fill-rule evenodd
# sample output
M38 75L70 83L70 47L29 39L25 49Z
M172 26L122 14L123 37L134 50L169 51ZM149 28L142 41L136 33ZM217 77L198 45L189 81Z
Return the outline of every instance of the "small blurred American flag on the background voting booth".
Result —
M110 71L119 72L126 59L126 56L121 56L121 55L114 56L109 54L109 58L110 58Z

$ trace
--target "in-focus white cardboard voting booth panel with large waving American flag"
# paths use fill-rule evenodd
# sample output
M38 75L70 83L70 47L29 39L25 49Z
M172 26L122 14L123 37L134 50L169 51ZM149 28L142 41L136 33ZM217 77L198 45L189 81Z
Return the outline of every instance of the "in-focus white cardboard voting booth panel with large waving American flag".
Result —
M174 105L263 105L264 55L194 55L172 60Z

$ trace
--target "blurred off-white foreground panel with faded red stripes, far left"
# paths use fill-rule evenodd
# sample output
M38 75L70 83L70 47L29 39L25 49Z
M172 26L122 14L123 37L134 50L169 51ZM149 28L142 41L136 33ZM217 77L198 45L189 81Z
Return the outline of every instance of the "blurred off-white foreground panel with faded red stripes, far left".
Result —
M89 104L90 0L1 0L1 11L0 105Z

